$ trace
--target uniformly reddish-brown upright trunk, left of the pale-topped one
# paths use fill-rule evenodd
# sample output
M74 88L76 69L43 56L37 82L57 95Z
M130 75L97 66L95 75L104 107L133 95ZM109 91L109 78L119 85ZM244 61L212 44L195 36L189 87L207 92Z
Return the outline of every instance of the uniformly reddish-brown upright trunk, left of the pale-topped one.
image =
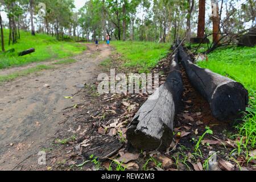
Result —
M199 16L197 26L197 38L204 38L205 28L205 0L199 0Z

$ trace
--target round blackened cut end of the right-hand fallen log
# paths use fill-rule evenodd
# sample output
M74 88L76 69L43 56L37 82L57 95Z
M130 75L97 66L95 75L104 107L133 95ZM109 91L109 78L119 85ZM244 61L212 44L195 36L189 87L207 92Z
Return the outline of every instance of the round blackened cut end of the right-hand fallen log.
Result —
M228 82L220 85L213 93L210 108L219 120L234 119L245 111L249 102L248 92L239 82Z

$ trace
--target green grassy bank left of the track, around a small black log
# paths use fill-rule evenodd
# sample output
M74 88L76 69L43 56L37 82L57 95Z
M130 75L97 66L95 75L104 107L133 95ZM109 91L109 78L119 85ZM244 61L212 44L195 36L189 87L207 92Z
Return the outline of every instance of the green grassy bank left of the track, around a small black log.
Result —
M51 59L64 59L77 55L86 49L79 43L57 41L55 37L45 34L32 36L30 32L20 32L18 43L8 46L9 30L4 30L6 51L14 48L14 53L0 53L0 69L15 67L32 62L46 61ZM30 55L18 56L18 52L28 48L35 48Z

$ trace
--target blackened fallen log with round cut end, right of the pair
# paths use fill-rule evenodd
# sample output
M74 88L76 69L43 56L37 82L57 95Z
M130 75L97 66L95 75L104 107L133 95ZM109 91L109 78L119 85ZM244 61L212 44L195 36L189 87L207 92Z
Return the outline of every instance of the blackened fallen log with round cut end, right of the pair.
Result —
M219 120L234 119L238 113L245 111L249 98L242 84L193 64L182 47L179 48L179 56L189 81L207 99L214 117Z

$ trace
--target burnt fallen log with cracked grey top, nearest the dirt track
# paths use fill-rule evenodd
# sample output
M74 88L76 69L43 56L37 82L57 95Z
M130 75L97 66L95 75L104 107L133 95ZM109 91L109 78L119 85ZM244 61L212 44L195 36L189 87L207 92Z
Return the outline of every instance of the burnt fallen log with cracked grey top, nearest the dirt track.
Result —
M173 122L180 108L183 84L177 53L167 81L142 105L127 130L127 139L141 150L165 150L172 143Z

